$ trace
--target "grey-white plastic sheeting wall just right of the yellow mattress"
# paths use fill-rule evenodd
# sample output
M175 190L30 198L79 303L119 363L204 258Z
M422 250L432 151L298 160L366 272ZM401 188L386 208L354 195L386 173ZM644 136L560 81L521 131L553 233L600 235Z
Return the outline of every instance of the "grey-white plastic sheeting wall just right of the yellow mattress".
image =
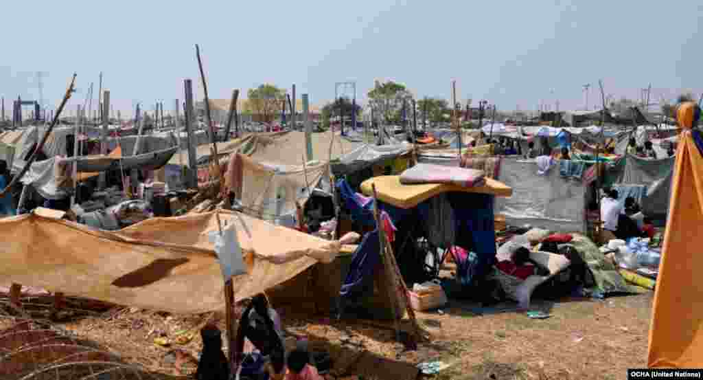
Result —
M498 180L512 187L512 196L496 198L495 212L508 224L585 232L586 188L579 180L562 178L558 165L539 176L535 161L504 158Z

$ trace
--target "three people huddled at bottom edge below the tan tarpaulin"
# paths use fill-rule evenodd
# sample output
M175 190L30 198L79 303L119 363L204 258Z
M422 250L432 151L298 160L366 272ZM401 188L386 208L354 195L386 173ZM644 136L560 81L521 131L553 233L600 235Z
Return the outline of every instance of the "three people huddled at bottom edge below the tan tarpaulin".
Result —
M219 330L206 327L201 331L203 350L198 363L195 379L215 380L230 379L228 360L222 352ZM285 352L283 327L276 310L269 305L266 296L259 294L252 298L240 318L235 346L235 362L240 371L246 365L244 357L245 338L252 343L263 357L255 372L268 374L268 379L281 380L324 380L317 368L311 364L311 355L307 345L299 343L297 347ZM241 379L250 379L249 374L240 373Z

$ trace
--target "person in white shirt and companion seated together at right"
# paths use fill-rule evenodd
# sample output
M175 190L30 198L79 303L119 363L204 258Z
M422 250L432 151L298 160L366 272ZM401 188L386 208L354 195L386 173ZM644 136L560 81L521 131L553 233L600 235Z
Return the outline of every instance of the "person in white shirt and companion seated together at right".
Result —
M603 222L601 240L630 239L633 237L654 237L652 220L644 217L640 205L628 196L622 205L619 192L615 189L605 190L605 197L600 201L600 218ZM638 223L637 220L641 220Z

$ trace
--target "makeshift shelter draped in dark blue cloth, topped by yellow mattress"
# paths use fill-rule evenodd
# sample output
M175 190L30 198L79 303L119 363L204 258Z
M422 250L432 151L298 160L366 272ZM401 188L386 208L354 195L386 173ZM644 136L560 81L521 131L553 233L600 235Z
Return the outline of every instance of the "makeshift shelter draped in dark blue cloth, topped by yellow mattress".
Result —
M462 169L457 168L459 171ZM361 184L366 196L373 196L375 186L378 207L384 210L394 224L394 253L401 274L408 284L424 281L427 277L425 262L432 255L430 272L437 274L444 257L438 250L449 253L452 246L473 251L477 260L458 270L463 283L471 284L475 277L482 277L496 255L494 228L494 197L510 196L511 189L493 179L486 178L482 186L465 187L452 184L401 184L399 176L381 176ZM352 208L362 224L375 226L369 220L370 203L359 203L350 189L340 188L347 208ZM370 223L369 223L370 222ZM419 246L420 237L425 246Z

